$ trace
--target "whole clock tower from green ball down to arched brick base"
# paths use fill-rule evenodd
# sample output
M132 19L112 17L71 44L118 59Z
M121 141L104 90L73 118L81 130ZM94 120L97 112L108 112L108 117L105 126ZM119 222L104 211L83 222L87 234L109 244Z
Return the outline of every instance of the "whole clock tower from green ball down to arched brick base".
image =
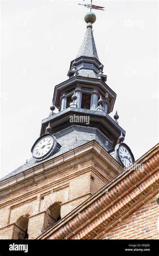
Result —
M117 112L115 120L109 116L116 94L97 54L95 21L94 13L85 15L83 42L67 80L55 86L51 113L31 148L33 157L1 179L2 236L37 238L134 162Z

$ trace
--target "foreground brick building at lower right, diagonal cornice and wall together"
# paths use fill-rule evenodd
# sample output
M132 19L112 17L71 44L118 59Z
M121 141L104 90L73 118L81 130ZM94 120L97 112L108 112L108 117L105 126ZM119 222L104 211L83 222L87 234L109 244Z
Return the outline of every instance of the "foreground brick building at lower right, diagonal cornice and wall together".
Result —
M156 145L133 169L123 170L38 239L159 238L158 149ZM93 171L92 184L94 174L101 174Z

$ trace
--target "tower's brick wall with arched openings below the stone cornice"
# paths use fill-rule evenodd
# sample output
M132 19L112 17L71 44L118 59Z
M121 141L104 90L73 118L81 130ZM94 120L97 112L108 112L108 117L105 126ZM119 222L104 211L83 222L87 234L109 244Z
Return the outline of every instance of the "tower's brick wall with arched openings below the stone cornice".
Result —
M23 215L29 215L29 239L36 238L55 223L55 220L47 213L50 205L60 202L60 214L63 218L109 180L110 178L103 169L94 160L89 159L1 198L1 239L3 237L5 237L4 239L13 239L13 237L18 239L19 232L22 235L23 230L16 225L16 222Z

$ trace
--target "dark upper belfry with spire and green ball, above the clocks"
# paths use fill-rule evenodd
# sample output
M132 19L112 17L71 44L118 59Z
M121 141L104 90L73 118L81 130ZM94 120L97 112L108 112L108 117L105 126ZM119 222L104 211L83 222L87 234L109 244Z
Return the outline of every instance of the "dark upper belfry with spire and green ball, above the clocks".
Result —
M96 15L88 12L84 19L87 30L83 42L70 63L68 79L55 86L52 112L42 121L40 135L46 133L49 123L53 134L64 129L68 133L77 129L79 137L83 137L83 131L88 131L93 138L100 132L97 141L110 151L115 148L121 133L125 136L125 131L109 116L116 93L106 84L107 75L97 54L92 31ZM53 112L55 106L59 110L57 114Z

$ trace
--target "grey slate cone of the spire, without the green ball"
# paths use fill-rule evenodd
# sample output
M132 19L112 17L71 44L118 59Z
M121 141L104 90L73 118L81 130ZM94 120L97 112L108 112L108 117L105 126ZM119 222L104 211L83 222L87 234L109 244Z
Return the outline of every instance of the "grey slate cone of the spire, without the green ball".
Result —
M78 51L76 58L81 56L96 58L97 60L99 60L91 27L88 27L86 30L84 40L81 44L80 50Z

